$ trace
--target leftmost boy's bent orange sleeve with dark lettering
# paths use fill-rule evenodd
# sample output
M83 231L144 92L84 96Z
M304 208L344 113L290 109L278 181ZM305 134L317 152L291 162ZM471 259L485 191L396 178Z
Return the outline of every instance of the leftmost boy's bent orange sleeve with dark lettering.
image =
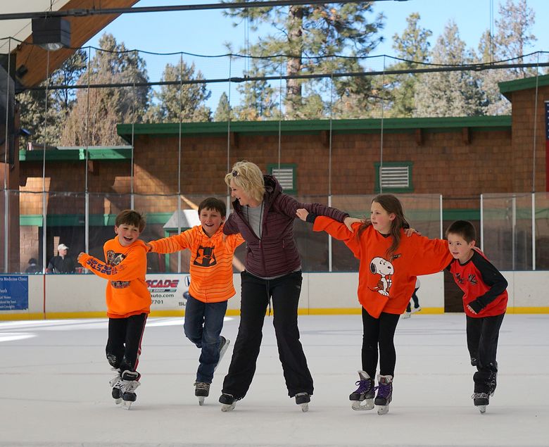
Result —
M79 262L82 267L101 278L111 281L131 281L142 277L146 272L146 251L143 246L137 246L130 250L118 265L108 265L88 254L82 255Z

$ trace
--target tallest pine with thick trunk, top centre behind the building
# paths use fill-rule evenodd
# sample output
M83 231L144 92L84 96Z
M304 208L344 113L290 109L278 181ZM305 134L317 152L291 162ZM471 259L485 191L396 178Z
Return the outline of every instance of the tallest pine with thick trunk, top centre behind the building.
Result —
M249 20L253 26L258 23L272 24L274 34L260 39L254 46L252 56L286 54L285 75L293 76L350 70L357 64L355 59L334 60L331 56L366 56L374 49L379 42L376 34L383 27L384 16L379 14L369 21L367 15L370 13L372 4L359 2L248 8L230 10L227 14L233 18ZM265 59L265 73L277 75L278 68L278 60ZM288 118L304 118L310 115L311 104L317 104L317 95L322 92L315 92L315 83L309 83L312 87L309 87L308 92L312 92L314 98L304 101L303 81L287 80L284 106ZM301 111L302 106L307 106L307 111ZM318 112L317 106L313 108Z

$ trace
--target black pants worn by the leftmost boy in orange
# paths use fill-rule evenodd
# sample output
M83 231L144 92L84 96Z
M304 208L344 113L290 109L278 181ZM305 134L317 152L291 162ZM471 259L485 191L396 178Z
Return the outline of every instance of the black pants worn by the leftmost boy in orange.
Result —
M146 313L108 319L106 354L112 367L120 368L121 372L137 369L146 320Z

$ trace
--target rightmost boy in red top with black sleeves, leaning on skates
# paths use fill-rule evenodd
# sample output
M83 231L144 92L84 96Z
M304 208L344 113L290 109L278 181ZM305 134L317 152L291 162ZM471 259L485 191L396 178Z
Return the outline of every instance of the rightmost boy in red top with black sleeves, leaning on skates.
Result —
M471 222L457 220L446 230L453 261L448 266L455 283L463 291L467 320L467 348L473 375L474 405L486 411L496 391L498 337L507 310L507 280L484 253L474 248L477 234Z

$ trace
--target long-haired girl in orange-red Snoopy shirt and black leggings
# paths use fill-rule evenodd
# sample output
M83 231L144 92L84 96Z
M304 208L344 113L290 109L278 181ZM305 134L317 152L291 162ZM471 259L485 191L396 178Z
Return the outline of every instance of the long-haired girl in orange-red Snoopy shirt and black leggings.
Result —
M350 231L333 219L298 210L302 220L314 222L313 230L324 230L344 241L360 260L358 301L362 304L362 370L358 372L358 389L349 399L354 410L389 411L393 397L396 350L394 335L415 287L417 275L443 270L452 256L448 243L431 240L410 229L398 199L379 194L370 206L370 219L353 225ZM374 387L379 355L378 386ZM377 396L374 400L374 389Z

